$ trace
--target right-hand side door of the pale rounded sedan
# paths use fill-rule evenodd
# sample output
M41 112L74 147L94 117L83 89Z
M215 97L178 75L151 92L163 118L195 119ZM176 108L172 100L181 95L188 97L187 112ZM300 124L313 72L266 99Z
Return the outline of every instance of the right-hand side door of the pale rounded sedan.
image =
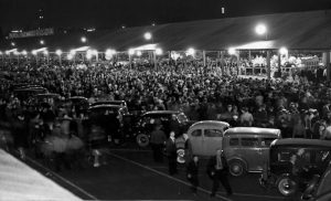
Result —
M217 149L222 149L223 130L218 128L204 129L203 155L213 156Z

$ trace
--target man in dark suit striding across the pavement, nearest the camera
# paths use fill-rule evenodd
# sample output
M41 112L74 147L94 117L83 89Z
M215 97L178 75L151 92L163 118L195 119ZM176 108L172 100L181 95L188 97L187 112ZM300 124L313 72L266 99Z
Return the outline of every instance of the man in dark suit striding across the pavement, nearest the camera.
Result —
M216 156L210 158L206 172L213 180L211 197L215 197L220 187L220 181L226 190L227 195L232 195L233 191L228 182L228 165L222 149L216 150Z

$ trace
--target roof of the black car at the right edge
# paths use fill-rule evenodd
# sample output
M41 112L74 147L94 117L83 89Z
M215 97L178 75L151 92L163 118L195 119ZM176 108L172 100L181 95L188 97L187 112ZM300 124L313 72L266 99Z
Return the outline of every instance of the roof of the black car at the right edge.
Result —
M273 141L273 147L277 146L317 146L317 147L330 147L331 141L322 139L303 139L303 138L287 138L287 139L277 139Z

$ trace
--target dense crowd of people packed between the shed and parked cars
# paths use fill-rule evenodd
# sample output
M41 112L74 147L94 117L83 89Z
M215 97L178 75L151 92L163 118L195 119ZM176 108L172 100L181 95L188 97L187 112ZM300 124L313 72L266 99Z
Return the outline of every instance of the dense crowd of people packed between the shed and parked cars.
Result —
M225 64L226 65L226 64ZM191 120L225 120L232 126L279 128L284 138L331 139L331 83L307 78L241 78L224 74L225 66L203 66L195 61L153 64L2 64L0 86L1 124L11 123L19 147L33 142L35 124L51 133L65 120L82 121L86 114L75 108L35 108L13 93L18 82L41 85L63 99L84 96L89 103L126 100L129 110L181 110ZM228 66L227 66L228 68ZM25 123L25 124L22 124ZM83 127L77 124L78 137ZM29 130L29 131L26 131ZM54 133L54 131L53 131ZM23 140L21 140L23 139ZM31 145L30 145L31 146Z

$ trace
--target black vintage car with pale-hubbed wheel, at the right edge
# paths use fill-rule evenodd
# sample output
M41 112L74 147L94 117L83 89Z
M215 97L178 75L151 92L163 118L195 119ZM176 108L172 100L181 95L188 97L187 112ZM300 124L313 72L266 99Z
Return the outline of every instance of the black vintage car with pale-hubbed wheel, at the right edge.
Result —
M292 158L298 150L302 151L305 161L300 183L292 174ZM288 138L271 142L269 161L265 165L259 179L263 187L276 187L282 195L289 197L298 191L305 191L313 178L321 176L330 162L331 141L320 139Z

